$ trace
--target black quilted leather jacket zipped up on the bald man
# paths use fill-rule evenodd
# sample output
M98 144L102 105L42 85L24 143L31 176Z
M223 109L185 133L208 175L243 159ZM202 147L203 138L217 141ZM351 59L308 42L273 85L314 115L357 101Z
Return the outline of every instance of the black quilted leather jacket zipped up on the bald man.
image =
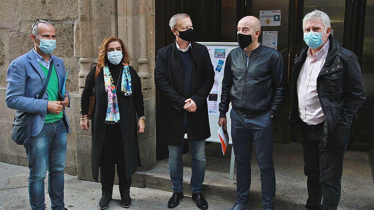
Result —
M277 50L260 44L252 50L247 66L245 50L235 48L226 59L220 117L226 117L230 101L244 117L275 115L285 102L286 85L283 58Z

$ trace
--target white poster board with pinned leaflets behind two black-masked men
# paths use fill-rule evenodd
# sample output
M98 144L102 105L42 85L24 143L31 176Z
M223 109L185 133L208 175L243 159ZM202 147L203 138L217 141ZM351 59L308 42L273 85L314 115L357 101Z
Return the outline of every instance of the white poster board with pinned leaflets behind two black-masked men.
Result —
M226 64L226 58L227 58L227 55L229 55L229 52L237 47L239 47L239 45L237 44L237 42L198 42L200 44L203 44L205 45L207 48L208 48L208 51L209 51L209 55L211 55L211 60L212 60L212 65L213 65L213 69L215 71L215 77L218 78L218 85L217 85L217 82L215 82L215 85L211 91L211 93L213 92L217 92L218 96L217 96L217 115L213 115L211 113L209 113L209 126L210 126L210 130L211 130L211 137L209 139L206 139L207 142L217 142L217 143L221 143L220 139L218 138L218 135L217 135L217 131L218 129L220 129L220 126L218 126L218 117L219 117L219 112L218 112L218 104L220 104L221 102L221 90L222 90L222 80L223 80L223 72L224 72L224 65ZM217 49L224 49L225 50L225 56L223 58L223 50L217 50ZM214 55L215 58L214 58ZM217 56L218 55L218 56ZM213 57L212 57L213 56ZM217 58L219 57L219 58ZM217 68L217 65L221 65L221 64L218 64L219 60L223 60L224 63L221 67L221 71L216 71L216 68ZM220 66L218 66L219 68ZM218 87L218 90L217 90L217 87ZM209 96L208 96L209 98ZM207 99L208 101L208 99ZM209 105L209 102L208 102L208 105L210 106L210 109L214 109L215 107L212 107L212 104L211 103ZM230 103L230 108L229 108L229 111L227 112L226 114L226 117L227 117L227 132L229 133L229 144L232 144L232 138L231 138L231 120L230 120L230 111L231 111L231 103ZM209 112L209 107L208 107L208 112ZM185 135L185 138L187 138L187 134Z

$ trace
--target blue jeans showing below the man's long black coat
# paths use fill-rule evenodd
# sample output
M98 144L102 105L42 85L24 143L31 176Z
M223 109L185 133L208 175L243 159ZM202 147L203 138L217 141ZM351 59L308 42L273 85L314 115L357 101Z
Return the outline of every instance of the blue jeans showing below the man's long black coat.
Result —
M201 192L205 176L205 140L190 142L192 155L192 175L191 191L192 193ZM169 145L169 172L170 179L173 182L172 189L176 192L183 192L183 159L182 146Z

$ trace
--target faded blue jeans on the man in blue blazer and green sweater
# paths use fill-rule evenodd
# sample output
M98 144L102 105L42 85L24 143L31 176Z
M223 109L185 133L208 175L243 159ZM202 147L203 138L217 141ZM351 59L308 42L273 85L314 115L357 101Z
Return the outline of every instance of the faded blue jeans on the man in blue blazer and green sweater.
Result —
M48 169L48 193L53 210L64 209L64 169L67 131L64 119L45 123L42 131L24 145L30 176L28 193L33 210L44 210L44 179Z

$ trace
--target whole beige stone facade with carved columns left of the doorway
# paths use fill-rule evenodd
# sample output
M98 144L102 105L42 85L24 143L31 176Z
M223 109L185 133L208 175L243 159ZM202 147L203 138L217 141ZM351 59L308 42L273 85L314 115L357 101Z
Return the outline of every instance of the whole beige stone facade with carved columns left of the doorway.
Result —
M97 60L98 46L118 36L128 47L131 64L142 80L146 129L139 135L141 169L156 161L154 123L154 1L153 0L9 0L0 4L0 161L27 166L23 146L10 139L15 111L6 107L6 71L12 60L32 49L31 26L37 18L55 21L55 56L69 69L66 108L71 126L65 172L91 180L91 132L79 127L80 94Z

